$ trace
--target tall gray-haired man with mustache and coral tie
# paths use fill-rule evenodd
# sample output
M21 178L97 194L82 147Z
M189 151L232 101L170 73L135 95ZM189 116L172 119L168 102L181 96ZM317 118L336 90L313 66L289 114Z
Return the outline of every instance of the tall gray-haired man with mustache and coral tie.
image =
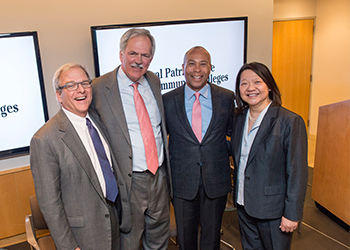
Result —
M91 109L108 130L117 173L126 180L128 196L121 200L122 249L140 249L141 241L143 249L168 246L172 189L164 108L159 78L147 71L154 50L155 41L148 30L128 30L120 40L121 66L92 84ZM147 122L140 122L140 100L144 103L143 118L149 117ZM149 140L143 134L145 124L150 128ZM149 162L149 149L154 164ZM153 171L149 170L151 165Z

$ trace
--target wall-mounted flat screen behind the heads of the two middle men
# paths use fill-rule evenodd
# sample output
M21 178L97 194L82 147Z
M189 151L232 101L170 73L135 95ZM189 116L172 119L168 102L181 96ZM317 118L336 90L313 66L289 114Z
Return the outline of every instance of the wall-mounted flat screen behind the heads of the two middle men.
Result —
M211 54L208 81L233 91L237 72L246 62L247 22L247 17L232 17L92 26L95 75L103 75L120 64L119 41L125 31L145 28L156 41L149 70L160 78L162 94L185 83L183 57L194 46L202 46Z

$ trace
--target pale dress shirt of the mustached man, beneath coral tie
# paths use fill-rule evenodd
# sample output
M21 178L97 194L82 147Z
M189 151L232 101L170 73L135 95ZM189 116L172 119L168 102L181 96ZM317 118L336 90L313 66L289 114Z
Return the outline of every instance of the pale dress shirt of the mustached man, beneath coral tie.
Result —
M130 140L132 144L132 154L133 154L133 171L145 171L147 170L145 147L143 144L140 124L137 119L135 103L134 103L134 89L131 86L132 82L124 73L122 68L119 68L117 73L120 97L123 103L124 114L126 122L128 124L128 130L130 135ZM158 109L157 101L154 98L151 87L149 86L146 78L142 76L139 81L138 90L145 102L146 109L148 111L149 117L151 119L151 124L154 132L154 137L156 139L158 161L159 165L163 163L164 160L164 147L163 139L161 133L161 116ZM117 128L116 128L117 129Z

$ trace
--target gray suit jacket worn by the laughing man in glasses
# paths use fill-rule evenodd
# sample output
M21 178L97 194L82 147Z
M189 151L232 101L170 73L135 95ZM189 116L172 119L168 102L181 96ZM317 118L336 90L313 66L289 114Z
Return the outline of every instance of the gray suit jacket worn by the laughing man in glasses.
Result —
M30 165L57 249L110 250L111 227L118 225L111 225L90 157L62 109L33 136Z

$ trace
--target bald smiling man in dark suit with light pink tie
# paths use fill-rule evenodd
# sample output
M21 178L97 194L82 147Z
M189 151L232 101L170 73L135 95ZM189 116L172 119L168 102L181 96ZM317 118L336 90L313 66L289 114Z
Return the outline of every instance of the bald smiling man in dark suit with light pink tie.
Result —
M200 249L218 250L231 190L226 136L232 131L234 93L207 83L211 60L203 47L190 49L182 68L186 84L163 96L178 239L180 249L198 249L200 225Z

